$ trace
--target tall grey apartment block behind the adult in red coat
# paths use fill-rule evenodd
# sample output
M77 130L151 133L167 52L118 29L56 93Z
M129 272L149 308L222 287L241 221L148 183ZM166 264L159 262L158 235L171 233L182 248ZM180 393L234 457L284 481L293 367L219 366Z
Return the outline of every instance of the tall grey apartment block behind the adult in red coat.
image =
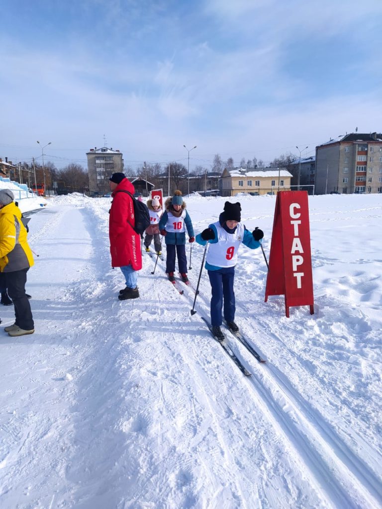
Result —
M113 173L123 173L123 158L119 150L102 147L90 149L88 158L89 190L93 194L109 191L109 177Z

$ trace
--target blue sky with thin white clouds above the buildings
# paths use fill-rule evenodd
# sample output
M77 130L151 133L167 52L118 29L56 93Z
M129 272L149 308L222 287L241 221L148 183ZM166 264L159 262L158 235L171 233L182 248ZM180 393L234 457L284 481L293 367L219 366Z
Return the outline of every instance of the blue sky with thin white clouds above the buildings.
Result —
M0 157L190 168L382 130L382 2L5 0Z

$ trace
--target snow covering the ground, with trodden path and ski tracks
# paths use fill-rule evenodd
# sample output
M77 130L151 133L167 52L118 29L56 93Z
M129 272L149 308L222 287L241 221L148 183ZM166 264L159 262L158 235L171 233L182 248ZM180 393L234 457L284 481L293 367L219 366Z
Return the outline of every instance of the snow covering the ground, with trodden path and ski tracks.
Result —
M31 216L36 333L1 333L2 509L382 507L382 197L309 200L314 315L264 303L262 252L240 247L236 322L267 363L229 341L252 377L200 318L205 271L193 317L192 291L146 254L141 298L117 299L109 199L61 196ZM187 200L197 232L224 201ZM275 197L240 202L269 256Z

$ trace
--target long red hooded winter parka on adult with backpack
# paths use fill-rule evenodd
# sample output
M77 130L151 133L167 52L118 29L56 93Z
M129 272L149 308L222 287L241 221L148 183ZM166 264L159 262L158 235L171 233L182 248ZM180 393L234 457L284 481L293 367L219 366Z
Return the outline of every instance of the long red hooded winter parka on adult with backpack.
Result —
M131 265L134 270L142 269L140 235L135 233L134 207L131 197L125 192L134 193L134 187L126 178L112 192L113 202L109 217L110 253L112 266Z

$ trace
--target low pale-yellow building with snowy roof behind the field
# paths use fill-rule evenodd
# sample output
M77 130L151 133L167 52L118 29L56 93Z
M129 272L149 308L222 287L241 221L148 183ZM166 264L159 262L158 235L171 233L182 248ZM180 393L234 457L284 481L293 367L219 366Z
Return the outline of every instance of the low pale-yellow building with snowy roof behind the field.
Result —
M276 194L290 191L292 174L285 168L225 168L219 179L219 191L222 196L236 196L248 193Z

